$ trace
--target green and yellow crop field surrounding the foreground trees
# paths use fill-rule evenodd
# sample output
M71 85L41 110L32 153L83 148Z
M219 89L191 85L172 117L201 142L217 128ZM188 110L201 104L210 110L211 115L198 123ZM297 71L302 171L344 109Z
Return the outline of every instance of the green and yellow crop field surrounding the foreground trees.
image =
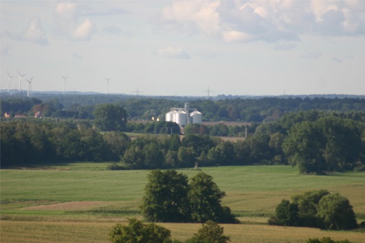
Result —
M140 216L147 170L106 170L110 163L65 163L1 170L0 242L108 242L113 225ZM221 224L231 242L365 242L360 231L274 227L267 219L293 194L328 189L349 198L357 220L365 220L365 172L300 175L289 166L203 167L226 192L223 205L242 224ZM197 171L179 170L193 176ZM159 224L173 239L186 240L200 224Z

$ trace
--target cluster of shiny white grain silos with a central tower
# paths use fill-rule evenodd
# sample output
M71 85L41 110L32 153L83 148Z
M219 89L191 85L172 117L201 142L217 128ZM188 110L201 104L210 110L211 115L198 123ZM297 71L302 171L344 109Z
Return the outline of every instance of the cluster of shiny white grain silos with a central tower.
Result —
M188 124L201 124L202 114L195 108L189 108L189 103L185 103L184 108L170 108L170 111L165 114L165 120L166 122L176 122L180 127Z

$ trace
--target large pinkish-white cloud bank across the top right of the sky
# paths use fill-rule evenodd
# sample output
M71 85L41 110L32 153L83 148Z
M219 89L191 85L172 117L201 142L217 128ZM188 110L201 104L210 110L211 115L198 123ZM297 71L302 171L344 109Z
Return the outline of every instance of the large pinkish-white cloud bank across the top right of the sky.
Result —
M365 36L365 1L174 1L161 12L168 30L225 41L298 40L302 34Z

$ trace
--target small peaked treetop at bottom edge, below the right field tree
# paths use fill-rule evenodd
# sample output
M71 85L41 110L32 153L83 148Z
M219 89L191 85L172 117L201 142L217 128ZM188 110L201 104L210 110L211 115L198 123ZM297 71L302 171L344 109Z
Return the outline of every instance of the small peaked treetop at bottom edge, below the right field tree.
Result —
M226 243L229 241L230 237L223 235L223 227L220 227L217 222L208 220L186 243Z

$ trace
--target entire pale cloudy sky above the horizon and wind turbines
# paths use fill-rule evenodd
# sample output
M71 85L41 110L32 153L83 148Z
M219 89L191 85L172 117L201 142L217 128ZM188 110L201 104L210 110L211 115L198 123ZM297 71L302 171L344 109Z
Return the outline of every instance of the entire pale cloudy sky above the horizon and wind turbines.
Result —
M0 4L1 89L365 94L363 0Z

